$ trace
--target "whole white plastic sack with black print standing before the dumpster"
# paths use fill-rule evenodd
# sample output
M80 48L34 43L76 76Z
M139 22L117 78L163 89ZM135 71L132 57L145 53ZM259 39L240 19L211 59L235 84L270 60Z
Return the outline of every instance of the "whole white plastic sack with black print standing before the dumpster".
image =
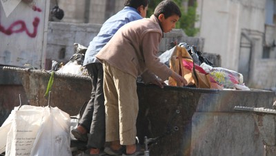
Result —
M0 131L0 150L6 146L6 155L64 155L70 152L70 116L57 107L15 107ZM7 133L6 133L7 134ZM2 140L3 138L3 140ZM3 142L6 142L3 143ZM3 153L3 150L1 151Z

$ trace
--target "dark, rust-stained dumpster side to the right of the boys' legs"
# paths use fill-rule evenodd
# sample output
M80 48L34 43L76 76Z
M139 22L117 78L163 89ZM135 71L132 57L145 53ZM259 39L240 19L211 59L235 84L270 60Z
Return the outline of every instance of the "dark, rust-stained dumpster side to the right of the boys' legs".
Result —
M178 129L161 138L157 146L153 145L150 155L250 155L264 152L262 137L252 115L237 113L234 107L272 108L272 91L160 89L141 85L137 93L140 139L145 135L159 137L168 131L168 126ZM177 110L179 114L175 114ZM176 117L170 122L174 115Z

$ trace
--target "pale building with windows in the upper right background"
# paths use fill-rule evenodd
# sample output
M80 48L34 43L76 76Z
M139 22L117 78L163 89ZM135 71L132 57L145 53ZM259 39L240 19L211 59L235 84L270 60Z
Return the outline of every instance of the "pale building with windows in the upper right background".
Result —
M275 1L197 0L204 52L221 55L221 66L239 71L246 85L276 87Z

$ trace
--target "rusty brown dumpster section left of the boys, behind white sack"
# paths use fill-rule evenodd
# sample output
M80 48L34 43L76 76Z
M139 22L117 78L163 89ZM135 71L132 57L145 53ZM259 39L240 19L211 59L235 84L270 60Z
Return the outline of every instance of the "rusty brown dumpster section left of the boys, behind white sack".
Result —
M48 97L44 97L44 94L47 90L51 71L17 67L3 67L3 70L16 71L21 76L28 104L33 106L48 105ZM87 76L55 72L50 105L58 107L69 115L77 115L81 106L90 100L91 88L91 81Z

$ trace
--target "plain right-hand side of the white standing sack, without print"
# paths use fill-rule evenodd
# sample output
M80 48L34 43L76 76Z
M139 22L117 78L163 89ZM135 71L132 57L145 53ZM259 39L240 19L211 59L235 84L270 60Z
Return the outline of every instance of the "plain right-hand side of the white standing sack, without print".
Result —
M43 124L37 133L30 155L69 156L70 116L58 109L45 107Z

